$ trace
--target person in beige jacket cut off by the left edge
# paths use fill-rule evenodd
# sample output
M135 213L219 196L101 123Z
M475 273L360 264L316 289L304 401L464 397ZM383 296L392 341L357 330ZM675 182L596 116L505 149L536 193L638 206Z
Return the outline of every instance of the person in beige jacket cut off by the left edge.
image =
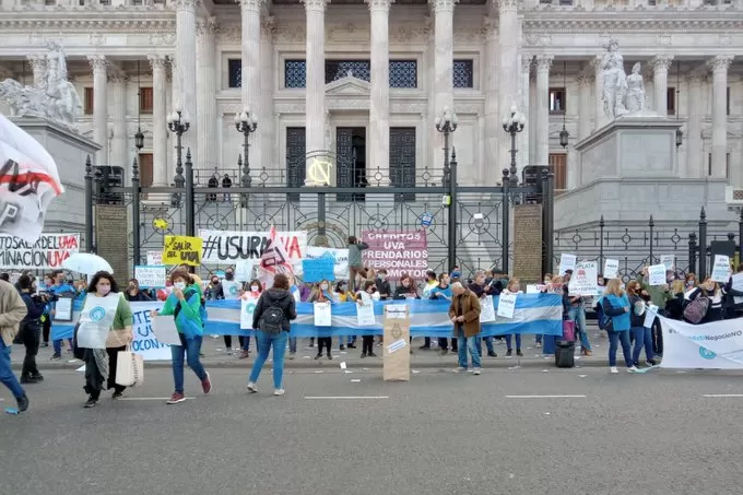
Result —
M26 305L23 303L21 294L12 284L0 280L0 381L8 387L15 398L19 412L28 409L28 398L17 378L13 375L10 352L19 325L26 317Z

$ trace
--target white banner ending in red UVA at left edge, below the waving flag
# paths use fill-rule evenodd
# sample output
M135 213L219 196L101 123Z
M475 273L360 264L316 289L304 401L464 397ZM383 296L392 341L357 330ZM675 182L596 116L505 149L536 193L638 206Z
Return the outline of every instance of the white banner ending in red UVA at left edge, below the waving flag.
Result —
M80 251L80 234L42 234L34 244L0 235L0 268L55 270Z

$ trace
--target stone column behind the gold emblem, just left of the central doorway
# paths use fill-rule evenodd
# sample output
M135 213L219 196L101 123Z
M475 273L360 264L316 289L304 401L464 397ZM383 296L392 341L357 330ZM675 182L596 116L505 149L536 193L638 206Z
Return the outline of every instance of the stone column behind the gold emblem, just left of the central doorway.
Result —
M305 132L307 153L326 149L325 125L325 9L327 0L304 0L307 15L307 89L305 91ZM312 158L307 161L309 168ZM334 175L335 170L331 170Z

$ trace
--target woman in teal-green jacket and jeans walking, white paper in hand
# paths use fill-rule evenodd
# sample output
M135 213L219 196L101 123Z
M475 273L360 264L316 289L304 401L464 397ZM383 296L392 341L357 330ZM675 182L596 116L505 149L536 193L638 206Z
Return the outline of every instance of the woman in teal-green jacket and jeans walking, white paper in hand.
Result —
M201 317L201 292L196 285L190 273L184 270L175 270L170 273L173 293L165 300L162 311L153 311L153 317L169 316L176 320L180 345L170 345L173 355L173 379L176 390L170 396L168 404L178 404L186 400L184 394L184 353L188 367L193 369L196 376L201 380L201 388L204 393L212 389L209 373L204 370L199 358L201 352L201 338L203 333L203 320Z

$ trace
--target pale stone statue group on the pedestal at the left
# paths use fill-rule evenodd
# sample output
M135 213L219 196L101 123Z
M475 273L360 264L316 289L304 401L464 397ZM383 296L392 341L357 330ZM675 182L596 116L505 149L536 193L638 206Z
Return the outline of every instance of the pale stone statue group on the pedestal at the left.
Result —
M73 128L82 115L78 91L68 81L64 50L47 43L46 70L39 87L22 86L7 79L0 83L0 99L10 104L14 115L40 117Z

